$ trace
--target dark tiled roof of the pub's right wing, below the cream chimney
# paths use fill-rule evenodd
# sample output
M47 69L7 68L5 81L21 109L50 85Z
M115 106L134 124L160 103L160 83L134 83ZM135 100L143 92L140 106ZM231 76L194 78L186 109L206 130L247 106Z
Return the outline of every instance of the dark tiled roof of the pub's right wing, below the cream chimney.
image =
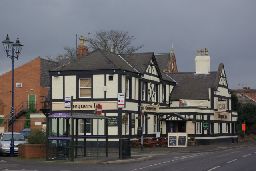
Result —
M217 72L208 74L196 74L195 72L168 73L178 84L174 87L171 100L209 99L209 88L214 87Z

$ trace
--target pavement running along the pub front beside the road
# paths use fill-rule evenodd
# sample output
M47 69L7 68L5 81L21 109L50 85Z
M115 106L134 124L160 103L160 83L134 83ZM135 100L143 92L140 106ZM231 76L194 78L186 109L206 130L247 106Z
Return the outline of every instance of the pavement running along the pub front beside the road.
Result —
M236 149L242 147L248 147L256 145L256 141L243 142L243 143L222 143L222 144L214 144L214 145L198 145L195 147L178 147L178 148L167 148L160 147L156 145L155 148L152 147L144 147L143 151L136 147L131 147L131 158L120 159L119 158L119 149L108 149L108 157L103 156L95 156L95 155L86 155L86 157L75 157L74 162L76 163L88 163L88 164L96 164L96 163L136 163L140 161L146 161L150 159L154 159L154 156L163 155L168 153L203 153L203 152L215 152L215 151L224 151L229 149ZM45 161L45 162L70 162L70 161ZM72 162L73 163L73 162Z

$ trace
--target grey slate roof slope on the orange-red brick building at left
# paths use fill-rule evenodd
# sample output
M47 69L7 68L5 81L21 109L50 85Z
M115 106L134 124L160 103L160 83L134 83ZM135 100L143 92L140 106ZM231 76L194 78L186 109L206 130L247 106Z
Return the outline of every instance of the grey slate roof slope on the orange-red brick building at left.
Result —
M41 58L41 87L50 87L49 71L58 66L58 62Z

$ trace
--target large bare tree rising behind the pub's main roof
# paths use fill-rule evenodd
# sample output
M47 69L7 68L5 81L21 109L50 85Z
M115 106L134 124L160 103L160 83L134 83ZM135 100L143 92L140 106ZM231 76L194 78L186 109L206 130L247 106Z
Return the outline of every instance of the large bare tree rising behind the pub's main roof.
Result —
M88 38L86 41L89 43L90 50L98 48L110 51L110 46L114 46L114 53L116 54L130 54L142 48L144 45L134 47L131 45L135 36L129 36L128 31L121 30L98 30L94 34L95 38Z

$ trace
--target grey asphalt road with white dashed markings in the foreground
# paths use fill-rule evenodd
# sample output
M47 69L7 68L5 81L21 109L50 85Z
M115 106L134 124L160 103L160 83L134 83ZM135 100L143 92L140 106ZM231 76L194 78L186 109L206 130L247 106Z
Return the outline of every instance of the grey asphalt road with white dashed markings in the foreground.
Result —
M169 153L128 164L48 163L0 157L0 171L256 171L256 146L207 153Z

